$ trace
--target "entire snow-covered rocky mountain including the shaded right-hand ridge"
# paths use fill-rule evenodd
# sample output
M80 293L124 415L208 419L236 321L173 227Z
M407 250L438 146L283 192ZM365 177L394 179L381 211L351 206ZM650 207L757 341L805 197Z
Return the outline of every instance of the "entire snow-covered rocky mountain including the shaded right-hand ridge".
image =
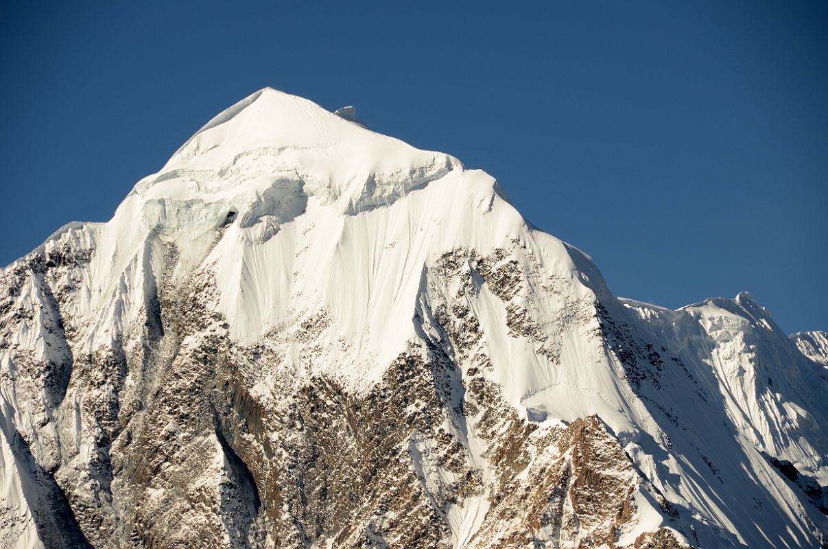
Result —
M767 311L618 300L348 113L263 89L2 271L12 547L825 542L826 370Z

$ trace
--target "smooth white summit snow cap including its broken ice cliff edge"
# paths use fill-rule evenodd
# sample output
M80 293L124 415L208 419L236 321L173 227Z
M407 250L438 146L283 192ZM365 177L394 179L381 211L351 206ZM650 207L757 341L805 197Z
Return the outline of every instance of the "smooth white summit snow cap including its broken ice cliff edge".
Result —
M463 170L455 157L372 132L346 114L262 89L195 132L135 185L125 207L140 202L143 223L162 232L214 229L232 212L243 229L258 226L261 241L311 196L356 214Z

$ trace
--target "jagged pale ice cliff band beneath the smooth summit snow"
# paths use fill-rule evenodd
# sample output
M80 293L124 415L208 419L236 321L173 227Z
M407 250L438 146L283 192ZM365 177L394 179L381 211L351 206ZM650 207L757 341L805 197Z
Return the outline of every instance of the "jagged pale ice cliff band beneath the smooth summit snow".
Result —
M262 163L263 157L268 161ZM247 238L263 242L301 215L310 196L322 205L341 202L341 213L354 215L390 205L458 167L450 157L436 156L390 173L358 173L343 185L323 166L302 169L284 152L262 150L245 160L234 158L217 171L176 168L142 181L132 196L142 202L143 223L161 234L201 234L232 221ZM273 166L282 169L274 172Z

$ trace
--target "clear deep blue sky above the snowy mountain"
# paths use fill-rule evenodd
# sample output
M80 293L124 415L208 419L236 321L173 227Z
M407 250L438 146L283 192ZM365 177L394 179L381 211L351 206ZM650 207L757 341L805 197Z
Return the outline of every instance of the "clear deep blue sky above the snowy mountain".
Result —
M406 3L0 3L0 263L270 85L488 171L616 295L828 330L828 2Z

